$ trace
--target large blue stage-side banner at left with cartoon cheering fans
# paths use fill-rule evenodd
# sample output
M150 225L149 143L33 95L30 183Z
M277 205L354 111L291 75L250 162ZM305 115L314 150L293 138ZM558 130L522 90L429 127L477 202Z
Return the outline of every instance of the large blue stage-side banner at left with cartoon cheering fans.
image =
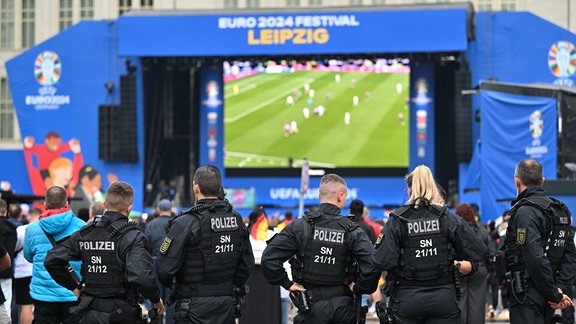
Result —
M98 158L98 107L120 103L119 75L126 73L115 55L115 29L108 21L83 22L6 63L24 146L24 163L10 172L28 180L12 182L16 192L43 196L48 187L60 185L70 196L92 201L121 180L136 190L135 209L142 206L142 158L138 163ZM132 62L136 73L138 64ZM142 125L142 110L137 111ZM142 134L138 129L140 154Z

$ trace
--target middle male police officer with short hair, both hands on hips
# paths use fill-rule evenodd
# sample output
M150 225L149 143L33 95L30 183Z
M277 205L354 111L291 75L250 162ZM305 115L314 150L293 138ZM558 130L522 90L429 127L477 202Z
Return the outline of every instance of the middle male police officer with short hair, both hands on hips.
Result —
M290 223L262 254L264 277L289 290L299 307L294 323L354 323L353 293L376 290L374 247L362 229L340 215L347 193L340 176L323 176L318 209ZM294 281L283 267L289 259Z

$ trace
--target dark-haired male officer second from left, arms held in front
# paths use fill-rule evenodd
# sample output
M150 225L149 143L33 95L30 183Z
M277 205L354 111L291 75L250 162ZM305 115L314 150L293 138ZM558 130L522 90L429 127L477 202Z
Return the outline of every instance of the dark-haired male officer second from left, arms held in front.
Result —
M169 223L160 245L156 270L160 282L172 287L176 324L234 323L234 291L254 268L246 226L228 201L218 198L221 187L217 167L199 167L196 204Z

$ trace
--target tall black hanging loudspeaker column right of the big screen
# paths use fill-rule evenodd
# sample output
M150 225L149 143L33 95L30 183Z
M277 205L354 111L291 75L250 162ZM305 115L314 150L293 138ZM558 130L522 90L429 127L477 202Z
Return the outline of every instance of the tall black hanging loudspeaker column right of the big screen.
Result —
M470 70L454 72L455 149L458 162L469 162L472 158L472 97L462 94L462 90L472 87L471 83Z

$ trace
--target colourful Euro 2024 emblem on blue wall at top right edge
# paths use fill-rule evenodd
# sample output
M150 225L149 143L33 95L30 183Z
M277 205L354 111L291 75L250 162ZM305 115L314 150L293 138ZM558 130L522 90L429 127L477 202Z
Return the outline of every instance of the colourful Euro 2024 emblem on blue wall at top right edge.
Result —
M558 79L554 84L571 87L574 81L570 78L576 73L576 49L568 41L554 43L548 51L548 68Z

